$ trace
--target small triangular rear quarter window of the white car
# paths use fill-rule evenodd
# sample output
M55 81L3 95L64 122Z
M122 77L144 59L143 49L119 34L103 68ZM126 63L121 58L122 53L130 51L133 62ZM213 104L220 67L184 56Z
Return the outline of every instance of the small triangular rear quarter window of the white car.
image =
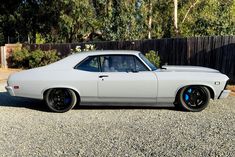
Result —
M91 71L91 72L99 72L99 62L98 57L88 57L80 64L78 64L75 69Z

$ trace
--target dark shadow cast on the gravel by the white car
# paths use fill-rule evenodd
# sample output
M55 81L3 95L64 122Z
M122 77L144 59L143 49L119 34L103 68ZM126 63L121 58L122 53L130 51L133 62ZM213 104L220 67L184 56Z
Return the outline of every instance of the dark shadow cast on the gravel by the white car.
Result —
M124 104L125 105L125 104ZM0 92L0 107L16 107L16 108L28 108L32 110L38 110L42 112L50 112L46 104L42 100L12 97L7 92ZM155 106L110 106L107 104L99 104L98 106L82 104L76 105L73 110L132 110L132 109L153 109L153 110L175 110L180 111L176 107L155 107Z

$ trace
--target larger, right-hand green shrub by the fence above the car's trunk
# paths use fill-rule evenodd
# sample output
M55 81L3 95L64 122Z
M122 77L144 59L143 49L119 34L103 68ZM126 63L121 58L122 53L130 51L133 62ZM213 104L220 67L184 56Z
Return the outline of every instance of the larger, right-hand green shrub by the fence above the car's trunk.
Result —
M29 68L40 67L59 60L59 56L55 50L42 51L35 50L31 52L29 57Z

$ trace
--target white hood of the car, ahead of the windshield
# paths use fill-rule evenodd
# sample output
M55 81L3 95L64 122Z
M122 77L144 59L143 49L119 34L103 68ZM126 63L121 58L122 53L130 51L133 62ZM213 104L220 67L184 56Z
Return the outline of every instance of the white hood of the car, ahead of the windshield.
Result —
M162 66L162 71L172 71L172 72L206 72L206 73L219 73L218 70L200 67L200 66L173 66L164 65Z

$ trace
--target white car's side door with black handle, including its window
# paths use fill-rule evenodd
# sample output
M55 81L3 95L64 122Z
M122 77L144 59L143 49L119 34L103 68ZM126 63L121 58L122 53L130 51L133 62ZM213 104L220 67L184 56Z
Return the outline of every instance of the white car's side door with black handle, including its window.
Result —
M100 99L111 102L156 102L156 75L136 56L100 56L100 64Z

